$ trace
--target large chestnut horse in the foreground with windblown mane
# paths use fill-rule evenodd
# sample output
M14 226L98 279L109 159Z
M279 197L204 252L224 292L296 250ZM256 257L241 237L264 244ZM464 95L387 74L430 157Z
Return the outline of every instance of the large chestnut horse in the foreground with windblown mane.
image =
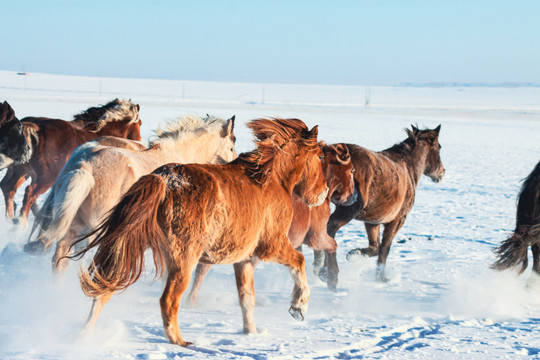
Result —
M87 236L96 239L73 257L97 247L81 287L94 298L85 332L114 292L126 289L144 270L150 247L156 273L167 273L160 299L165 334L187 346L178 327L180 298L198 262L234 264L244 332L255 333L255 258L286 265L295 281L289 313L303 319L309 287L304 256L287 237L291 195L320 205L328 193L321 168L317 127L298 119L258 119L248 126L257 148L224 165L168 164L141 177ZM82 238L79 241L84 241Z

